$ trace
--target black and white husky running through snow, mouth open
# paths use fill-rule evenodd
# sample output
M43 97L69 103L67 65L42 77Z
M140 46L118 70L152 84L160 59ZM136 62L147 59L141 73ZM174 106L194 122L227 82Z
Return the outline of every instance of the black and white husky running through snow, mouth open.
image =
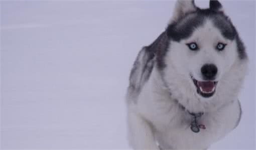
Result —
M177 1L166 30L137 56L127 89L135 149L206 149L234 129L247 55L218 1Z

